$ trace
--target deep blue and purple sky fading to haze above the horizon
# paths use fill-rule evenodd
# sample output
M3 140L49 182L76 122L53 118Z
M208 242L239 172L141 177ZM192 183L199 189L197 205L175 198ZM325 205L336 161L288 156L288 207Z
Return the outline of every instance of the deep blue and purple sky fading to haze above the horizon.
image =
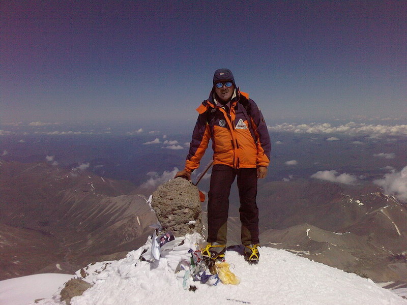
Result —
M270 120L407 117L406 1L30 0L0 10L0 124L195 120L218 68Z

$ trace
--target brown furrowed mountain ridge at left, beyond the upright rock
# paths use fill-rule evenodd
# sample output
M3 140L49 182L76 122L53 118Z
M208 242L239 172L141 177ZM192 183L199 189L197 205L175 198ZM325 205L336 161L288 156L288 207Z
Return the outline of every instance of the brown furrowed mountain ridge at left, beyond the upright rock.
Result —
M133 189L130 182L77 168L1 161L0 242L10 260L2 263L0 278L26 275L23 266L73 272L106 255L122 257L137 249L157 220L146 198L126 195ZM40 256L29 255L30 248Z

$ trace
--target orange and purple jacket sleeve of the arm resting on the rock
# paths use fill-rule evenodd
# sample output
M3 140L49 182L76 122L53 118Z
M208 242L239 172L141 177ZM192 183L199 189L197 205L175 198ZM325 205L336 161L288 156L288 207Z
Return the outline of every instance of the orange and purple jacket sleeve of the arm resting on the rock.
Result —
M197 110L200 113L192 133L192 141L189 144L189 153L185 162L185 170L188 172L192 172L194 169L199 167L200 160L205 154L209 139L211 138L211 131L209 125L207 124L206 112L201 107L199 107Z

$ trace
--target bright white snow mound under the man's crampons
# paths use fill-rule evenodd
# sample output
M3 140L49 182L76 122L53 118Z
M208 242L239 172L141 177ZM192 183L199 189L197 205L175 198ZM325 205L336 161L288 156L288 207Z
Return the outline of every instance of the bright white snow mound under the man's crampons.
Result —
M175 266L190 257L188 250L196 248L202 237L194 233L181 239L183 243L163 253L159 261L139 260L151 246L149 239L122 260L100 262L78 271L77 277L93 287L73 297L71 304L407 304L371 280L272 248L260 249L257 265L248 265L237 251L226 252L226 261L240 278L239 285L193 282L184 277L186 271L176 273ZM190 290L191 285L197 289ZM56 292L52 299L37 304L62 302Z

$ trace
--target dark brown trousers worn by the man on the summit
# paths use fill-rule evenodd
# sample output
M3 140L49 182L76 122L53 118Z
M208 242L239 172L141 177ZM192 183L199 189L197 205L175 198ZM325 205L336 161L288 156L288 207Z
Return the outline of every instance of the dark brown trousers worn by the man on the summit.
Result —
M208 242L226 244L230 187L236 176L238 176L240 198L242 244L254 245L259 243L256 204L257 170L255 168L234 169L222 164L214 165L211 174L208 194Z

